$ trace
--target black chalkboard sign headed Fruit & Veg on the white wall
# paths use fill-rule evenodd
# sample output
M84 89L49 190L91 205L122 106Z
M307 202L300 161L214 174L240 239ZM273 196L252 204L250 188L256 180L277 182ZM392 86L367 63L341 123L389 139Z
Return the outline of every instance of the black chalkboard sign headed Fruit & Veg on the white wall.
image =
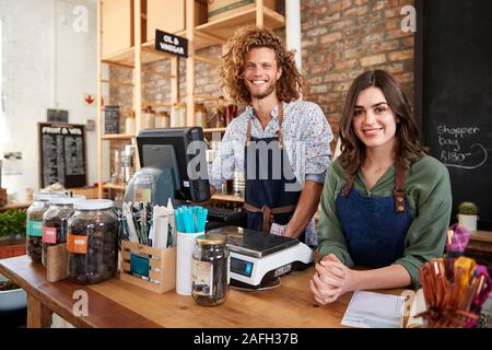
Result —
M39 122L38 128L42 188L55 183L85 186L85 126Z

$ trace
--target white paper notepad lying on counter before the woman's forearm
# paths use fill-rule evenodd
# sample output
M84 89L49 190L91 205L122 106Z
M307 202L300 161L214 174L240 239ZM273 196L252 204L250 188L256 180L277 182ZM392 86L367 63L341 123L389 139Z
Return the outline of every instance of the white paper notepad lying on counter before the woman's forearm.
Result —
M356 291L341 324L360 328L401 328L403 307L403 296Z

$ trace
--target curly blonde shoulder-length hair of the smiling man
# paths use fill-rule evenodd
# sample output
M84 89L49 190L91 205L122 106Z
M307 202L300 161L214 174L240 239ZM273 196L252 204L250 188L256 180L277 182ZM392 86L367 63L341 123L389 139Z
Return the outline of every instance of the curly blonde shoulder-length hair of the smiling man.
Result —
M255 25L238 28L229 39L219 66L221 88L236 104L251 104L251 96L244 82L244 68L248 52L258 47L268 47L276 51L277 67L282 69L282 75L277 81L279 101L298 100L304 90L304 82L295 67L294 51L288 50L272 31Z

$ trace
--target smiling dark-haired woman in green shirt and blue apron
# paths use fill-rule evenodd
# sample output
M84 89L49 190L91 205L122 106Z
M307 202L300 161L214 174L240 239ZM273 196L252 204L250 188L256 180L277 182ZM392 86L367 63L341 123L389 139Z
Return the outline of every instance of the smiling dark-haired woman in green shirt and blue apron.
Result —
M321 198L321 260L311 282L320 304L360 289L417 288L420 266L442 256L449 175L419 139L391 75L375 70L355 79L340 122L341 155L328 170Z

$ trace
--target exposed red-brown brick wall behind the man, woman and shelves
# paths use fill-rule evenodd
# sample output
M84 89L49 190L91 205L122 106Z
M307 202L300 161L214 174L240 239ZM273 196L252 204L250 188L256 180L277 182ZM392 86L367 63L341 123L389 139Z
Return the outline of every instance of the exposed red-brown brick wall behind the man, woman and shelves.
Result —
M306 79L305 100L318 103L337 133L350 83L370 69L386 69L402 83L413 101L413 34L400 30L403 5L413 0L302 0L302 57ZM278 32L283 35L283 31ZM220 47L200 51L218 57ZM168 71L168 61L150 65ZM186 95L186 61L179 60L179 97ZM122 77L121 77L122 75ZM128 71L113 69L112 78L131 80ZM196 93L221 94L215 67L196 62ZM155 75L143 78L143 100L167 103L171 85ZM110 103L131 105L131 90L113 89ZM209 114L214 106L207 104ZM335 142L332 143L335 147Z

